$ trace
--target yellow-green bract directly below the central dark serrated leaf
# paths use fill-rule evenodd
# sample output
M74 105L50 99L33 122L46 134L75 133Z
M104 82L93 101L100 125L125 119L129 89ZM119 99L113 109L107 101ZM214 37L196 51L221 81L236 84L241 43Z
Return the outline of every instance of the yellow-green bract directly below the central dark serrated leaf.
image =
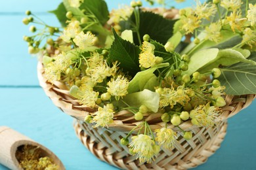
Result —
M154 67L146 69L145 71L140 71L133 77L133 80L129 82L127 92L134 93L142 91L145 88L148 90L154 90L154 87L159 85L158 81L156 81L157 79L156 75L154 75L154 71L156 71L156 69L167 66L169 66L169 63L161 63L158 65L154 65Z

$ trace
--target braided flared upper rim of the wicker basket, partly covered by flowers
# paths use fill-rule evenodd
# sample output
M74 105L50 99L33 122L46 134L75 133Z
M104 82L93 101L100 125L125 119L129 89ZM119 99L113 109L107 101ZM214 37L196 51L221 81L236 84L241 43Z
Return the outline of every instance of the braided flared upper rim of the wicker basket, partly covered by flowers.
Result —
M53 84L48 82L44 77L44 69L43 63L39 59L37 63L37 77L39 79L39 84L41 88L45 91L46 95L53 101L54 105L58 107L60 110L65 112L66 114L76 118L77 120L84 121L85 116L87 116L91 112L95 112L96 109L92 109L90 107L84 107L79 105L77 99L74 99L66 88L65 84L60 81L55 81ZM221 107L223 112L219 115L220 122L223 122L227 118L230 118L237 114L240 110L248 107L253 99L255 99L255 94L247 94L247 95L226 95L225 101L226 105ZM141 122L138 122L134 119L134 116L129 116L131 112L127 110L121 110L115 114L115 118L124 117L123 120L114 119L114 124L110 124L108 126L109 129L114 129L118 131L130 131L133 127L136 127ZM126 116L126 118L125 118ZM127 117L128 116L128 117ZM148 114L146 115L146 121L149 122L152 130L159 129L165 126L164 122L160 122L161 113L156 114ZM135 121L132 121L135 120ZM193 127L198 127L192 125L190 121L182 122L179 126L184 130L191 130ZM168 126L175 131L178 131L178 127L173 125Z

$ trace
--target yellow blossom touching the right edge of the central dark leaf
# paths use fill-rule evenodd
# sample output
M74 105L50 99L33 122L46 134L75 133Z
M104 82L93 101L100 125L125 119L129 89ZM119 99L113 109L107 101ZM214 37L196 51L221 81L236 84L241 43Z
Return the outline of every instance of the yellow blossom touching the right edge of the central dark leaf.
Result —
M145 51L139 54L140 67L149 68L155 65L156 56L149 51Z

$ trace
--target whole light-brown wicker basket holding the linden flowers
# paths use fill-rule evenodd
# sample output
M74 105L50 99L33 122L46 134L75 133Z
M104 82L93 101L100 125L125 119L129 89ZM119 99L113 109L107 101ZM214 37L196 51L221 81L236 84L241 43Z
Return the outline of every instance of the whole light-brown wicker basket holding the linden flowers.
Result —
M140 163L129 154L127 146L120 144L120 139L138 124L130 112L123 110L115 114L114 124L108 129L93 128L83 120L89 112L95 112L95 109L81 107L77 100L70 96L62 82L54 82L54 84L47 82L43 76L43 65L40 61L37 72L41 87L54 105L75 118L74 128L81 142L97 158L121 169L189 169L204 163L220 147L226 135L226 119L249 106L255 98L255 95L226 95L226 106L223 107L223 112L219 116L222 120L220 124L206 128L192 126L189 121L184 122L180 127L185 131L192 131L192 139L186 141L178 134L172 150L161 149L153 163ZM160 121L160 116L161 114L157 113L146 116L152 130L165 125ZM169 126L169 128L178 131L177 127Z

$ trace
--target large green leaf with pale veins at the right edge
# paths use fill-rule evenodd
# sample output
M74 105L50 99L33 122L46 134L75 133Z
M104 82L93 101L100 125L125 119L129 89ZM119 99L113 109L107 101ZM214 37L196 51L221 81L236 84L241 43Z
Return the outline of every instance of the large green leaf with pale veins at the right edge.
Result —
M252 52L248 58L256 61L256 52ZM256 93L255 65L250 63L236 63L221 69L218 78L222 86L226 86L225 92L230 95L243 95Z

